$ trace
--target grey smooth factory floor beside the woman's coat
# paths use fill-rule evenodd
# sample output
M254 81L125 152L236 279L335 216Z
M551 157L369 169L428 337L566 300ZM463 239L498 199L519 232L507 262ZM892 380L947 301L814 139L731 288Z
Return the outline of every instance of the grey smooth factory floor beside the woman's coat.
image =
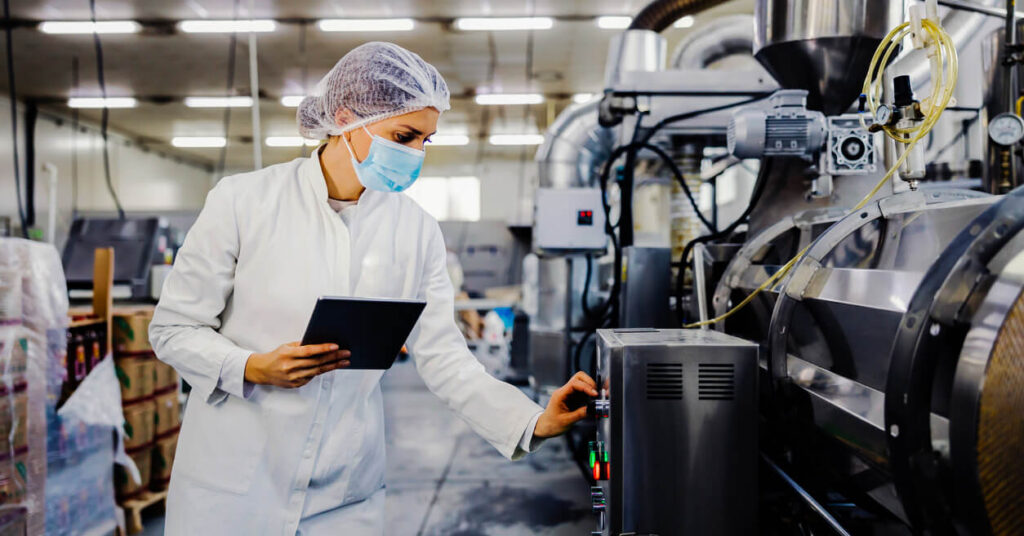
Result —
M384 375L387 529L396 536L589 534L586 481L561 439L503 458L434 397L412 362ZM163 534L163 520L146 523Z

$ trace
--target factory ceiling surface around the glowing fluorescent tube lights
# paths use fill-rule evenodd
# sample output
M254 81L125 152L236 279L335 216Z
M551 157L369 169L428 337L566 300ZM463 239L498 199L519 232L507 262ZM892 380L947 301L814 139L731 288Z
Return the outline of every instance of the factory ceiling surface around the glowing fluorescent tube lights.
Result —
M258 73L262 136L296 135L294 109L283 107L285 94L302 94L345 52L371 40L393 41L418 52L446 79L453 109L441 119L441 131L485 133L543 131L577 92L601 89L608 41L615 30L601 30L597 15L632 14L646 0L256 0L255 17L282 23L270 34L258 35ZM239 2L239 16L248 18L248 0ZM184 34L174 22L183 18L231 18L234 0L96 0L97 19L131 18L143 23L134 35L102 35L106 93L133 95L135 109L111 110L111 128L171 154L213 164L218 149L174 149L172 136L222 135L222 109L189 109L184 96L249 94L248 35L240 34L234 82L227 88L230 36ZM733 0L699 14L701 23L724 14L752 12L753 0ZM536 32L463 32L453 28L456 16L556 17L552 30ZM46 35L35 25L46 19L88 19L88 0L12 0L14 67L18 97L33 98L41 108L67 114L69 96L98 96L91 35ZM313 23L325 17L397 17L417 19L411 32L324 33ZM694 29L665 32L669 49ZM529 53L530 48L532 53ZM79 65L74 83L72 64ZM0 61L4 60L0 57ZM5 66L6 67L6 66ZM6 88L0 76L0 88ZM480 107L477 92L542 92L543 105ZM83 118L98 120L95 110ZM231 111L227 168L252 166L249 109ZM467 152L469 150L470 152ZM263 148L264 164L294 158L292 148ZM435 147L427 165L466 158L517 158L521 148L495 148L474 142L469 148ZM532 152L530 151L530 154ZM467 157L469 155L469 157Z

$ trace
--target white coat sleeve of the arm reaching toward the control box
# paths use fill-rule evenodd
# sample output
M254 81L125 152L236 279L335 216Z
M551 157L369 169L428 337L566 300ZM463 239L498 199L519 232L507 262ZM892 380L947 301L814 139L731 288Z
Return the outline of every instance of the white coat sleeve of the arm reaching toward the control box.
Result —
M409 338L409 349L427 387L503 456L525 452L519 443L543 409L518 388L484 370L455 323L455 292L449 279L444 239L433 223L420 297L427 306Z

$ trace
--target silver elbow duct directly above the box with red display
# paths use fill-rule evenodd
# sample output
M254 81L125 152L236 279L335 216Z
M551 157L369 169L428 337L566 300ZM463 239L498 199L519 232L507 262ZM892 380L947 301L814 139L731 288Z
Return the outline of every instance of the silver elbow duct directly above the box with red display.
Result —
M601 166L615 138L597 124L598 100L566 108L548 128L537 151L541 188L589 188L597 184Z

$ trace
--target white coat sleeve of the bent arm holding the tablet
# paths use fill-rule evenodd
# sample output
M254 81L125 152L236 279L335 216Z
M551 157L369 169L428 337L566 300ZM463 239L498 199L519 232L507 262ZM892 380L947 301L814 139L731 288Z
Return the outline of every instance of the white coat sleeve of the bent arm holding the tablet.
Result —
M150 324L150 341L160 360L174 367L200 396L218 404L228 395L245 398L252 352L217 332L234 287L239 231L234 200L221 181L178 250Z

